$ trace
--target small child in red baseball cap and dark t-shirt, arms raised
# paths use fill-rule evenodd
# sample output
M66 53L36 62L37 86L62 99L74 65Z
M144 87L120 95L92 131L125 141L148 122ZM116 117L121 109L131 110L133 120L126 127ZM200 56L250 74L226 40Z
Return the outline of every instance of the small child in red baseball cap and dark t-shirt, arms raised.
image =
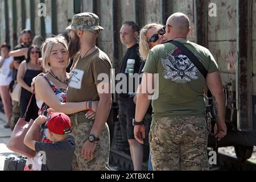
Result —
M43 125L46 123L45 125ZM37 142L32 139L33 133L40 125L48 128L48 138L53 143ZM46 164L42 164L42 171L71 171L75 139L71 133L71 121L64 113L51 113L48 119L39 115L24 138L24 144L36 152L46 154Z

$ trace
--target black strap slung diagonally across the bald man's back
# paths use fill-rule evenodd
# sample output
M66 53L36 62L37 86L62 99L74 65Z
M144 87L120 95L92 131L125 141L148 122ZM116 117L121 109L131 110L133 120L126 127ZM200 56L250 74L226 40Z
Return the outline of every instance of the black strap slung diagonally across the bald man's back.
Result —
M182 43L180 43L177 40L171 40L169 41L169 43L174 44L174 46L179 48L180 51L184 53L184 55L186 55L192 61L192 63L196 66L196 68L199 69L201 74L206 79L207 73L208 73L207 69L205 69L204 65L199 61L199 59L191 51L189 51L187 47L185 47Z

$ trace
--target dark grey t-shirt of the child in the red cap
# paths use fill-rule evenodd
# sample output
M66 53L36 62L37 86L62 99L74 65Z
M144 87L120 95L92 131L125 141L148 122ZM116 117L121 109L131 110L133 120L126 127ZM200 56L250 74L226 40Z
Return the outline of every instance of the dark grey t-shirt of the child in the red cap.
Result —
M36 142L35 151L46 152L46 164L42 164L42 171L71 171L75 147L75 139L71 135L65 141Z

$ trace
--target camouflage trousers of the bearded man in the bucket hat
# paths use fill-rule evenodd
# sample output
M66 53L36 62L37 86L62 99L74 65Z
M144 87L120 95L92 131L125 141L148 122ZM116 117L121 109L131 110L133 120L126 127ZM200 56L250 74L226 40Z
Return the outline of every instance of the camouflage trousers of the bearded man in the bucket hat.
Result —
M86 119L84 114L71 116L71 129L76 142L76 150L73 156L73 171L108 171L109 170L109 151L110 136L109 127L105 124L100 135L92 160L82 158L82 146L90 135L90 130L94 124L92 119ZM82 121L81 121L82 120Z

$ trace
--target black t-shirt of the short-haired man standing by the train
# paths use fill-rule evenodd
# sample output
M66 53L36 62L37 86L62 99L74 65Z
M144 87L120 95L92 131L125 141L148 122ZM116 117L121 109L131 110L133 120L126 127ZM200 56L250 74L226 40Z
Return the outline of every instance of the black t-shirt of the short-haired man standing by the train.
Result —
M139 73L139 68L141 67L141 57L139 57L138 49L139 49L139 44L135 44L133 47L130 47L129 49L127 49L125 56L123 56L121 69L119 73L126 74L127 89L126 89L126 92L118 94L119 97L122 97L122 98L133 97L135 95L134 93L137 91L135 88L135 82L137 81L135 81L135 78L131 78L131 76L133 76L134 73ZM133 80L133 89L132 88L129 89L129 82L131 82L132 80ZM120 81L122 81L122 79ZM136 87L137 86L138 85L136 85ZM129 90L131 92L129 92Z

